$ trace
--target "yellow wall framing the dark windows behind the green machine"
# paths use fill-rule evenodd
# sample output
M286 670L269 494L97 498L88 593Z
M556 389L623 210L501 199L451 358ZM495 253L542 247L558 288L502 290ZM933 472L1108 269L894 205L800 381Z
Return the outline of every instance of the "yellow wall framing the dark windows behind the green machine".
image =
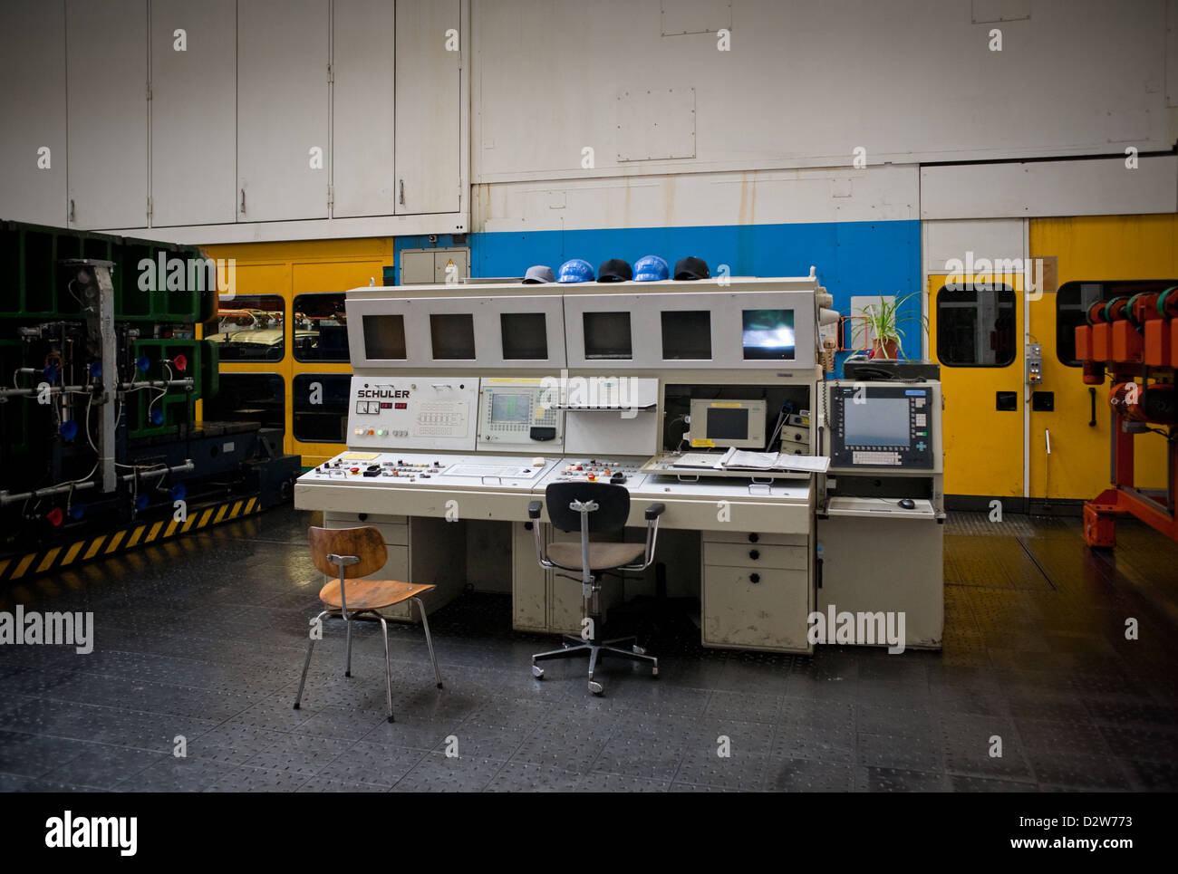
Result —
M291 324L290 305L296 294L346 291L382 284L385 266L392 265L392 237L307 240L297 243L243 243L203 246L210 258L234 259L238 294L280 294L286 302L285 324ZM350 373L348 362L296 362L287 338L280 362L257 364L226 362L223 373L278 373L286 385L285 451L302 455L307 465L326 461L339 451L336 443L296 441L291 385L297 373Z

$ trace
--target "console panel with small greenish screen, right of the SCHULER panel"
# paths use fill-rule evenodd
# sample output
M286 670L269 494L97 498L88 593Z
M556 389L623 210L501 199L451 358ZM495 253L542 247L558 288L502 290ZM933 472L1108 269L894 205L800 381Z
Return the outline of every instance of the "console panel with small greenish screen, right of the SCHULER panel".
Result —
M483 377L478 398L478 449L560 450L564 413L547 405L540 379Z

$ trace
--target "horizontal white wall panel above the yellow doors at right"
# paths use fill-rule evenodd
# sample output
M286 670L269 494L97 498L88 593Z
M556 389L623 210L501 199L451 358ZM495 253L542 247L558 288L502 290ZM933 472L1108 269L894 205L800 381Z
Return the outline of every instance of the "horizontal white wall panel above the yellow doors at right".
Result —
M968 164L920 171L921 218L1116 216L1178 210L1178 158Z

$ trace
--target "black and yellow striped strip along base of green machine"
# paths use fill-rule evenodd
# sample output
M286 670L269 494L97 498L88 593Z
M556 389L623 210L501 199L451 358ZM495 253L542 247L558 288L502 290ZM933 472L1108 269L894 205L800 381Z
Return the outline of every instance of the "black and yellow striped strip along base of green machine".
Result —
M93 558L125 552L147 543L158 543L168 537L250 516L260 509L257 497L234 498L224 504L193 510L184 522L168 518L134 523L117 531L106 531L70 544L51 547L40 552L8 556L0 558L0 582L11 582L26 576L68 568L72 564L81 564Z

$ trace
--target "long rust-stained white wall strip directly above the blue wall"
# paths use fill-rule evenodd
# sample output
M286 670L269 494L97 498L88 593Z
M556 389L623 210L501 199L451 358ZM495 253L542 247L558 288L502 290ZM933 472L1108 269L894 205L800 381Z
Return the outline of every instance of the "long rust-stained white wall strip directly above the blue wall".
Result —
M476 231L915 219L914 166L690 173L475 188Z

